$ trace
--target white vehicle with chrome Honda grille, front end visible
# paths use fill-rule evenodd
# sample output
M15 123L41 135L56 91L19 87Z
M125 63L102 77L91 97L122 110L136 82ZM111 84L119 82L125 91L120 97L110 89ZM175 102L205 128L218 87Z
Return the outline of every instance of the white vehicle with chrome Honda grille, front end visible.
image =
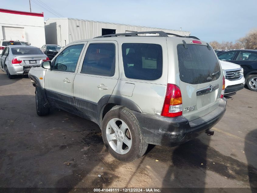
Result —
M220 63L225 77L224 95L235 93L236 91L243 89L245 86L244 69L231 62L220 60Z

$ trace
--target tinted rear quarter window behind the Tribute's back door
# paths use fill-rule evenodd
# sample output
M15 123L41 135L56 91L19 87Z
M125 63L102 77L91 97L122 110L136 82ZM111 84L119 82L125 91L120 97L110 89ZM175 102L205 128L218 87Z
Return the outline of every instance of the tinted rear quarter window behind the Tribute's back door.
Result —
M122 44L124 73L127 78L157 80L162 74L162 48L158 44Z

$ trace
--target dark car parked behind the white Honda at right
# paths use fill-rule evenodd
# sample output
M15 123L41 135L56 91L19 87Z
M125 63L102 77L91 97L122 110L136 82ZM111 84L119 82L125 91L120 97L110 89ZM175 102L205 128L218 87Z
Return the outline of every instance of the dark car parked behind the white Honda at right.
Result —
M232 50L219 54L218 58L240 65L248 88L257 91L257 50Z

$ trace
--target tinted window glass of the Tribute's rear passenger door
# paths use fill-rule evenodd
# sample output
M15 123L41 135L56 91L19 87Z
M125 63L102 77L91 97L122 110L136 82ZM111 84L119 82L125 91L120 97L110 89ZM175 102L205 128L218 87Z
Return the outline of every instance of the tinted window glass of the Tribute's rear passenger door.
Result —
M112 77L115 73L115 45L90 44L81 73Z

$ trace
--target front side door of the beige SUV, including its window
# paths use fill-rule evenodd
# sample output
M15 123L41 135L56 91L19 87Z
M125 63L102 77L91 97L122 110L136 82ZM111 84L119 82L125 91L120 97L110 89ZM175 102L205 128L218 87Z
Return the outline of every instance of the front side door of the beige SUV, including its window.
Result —
M73 100L73 81L85 44L74 44L65 48L46 70L45 91L51 105L76 110Z

